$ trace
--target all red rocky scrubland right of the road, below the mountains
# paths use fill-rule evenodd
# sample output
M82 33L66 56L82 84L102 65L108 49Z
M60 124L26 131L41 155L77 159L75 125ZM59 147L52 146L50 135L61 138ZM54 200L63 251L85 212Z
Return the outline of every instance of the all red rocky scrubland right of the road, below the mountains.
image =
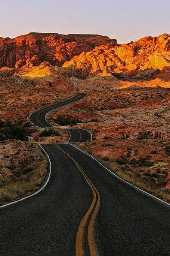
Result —
M81 144L84 150L124 180L170 202L170 88L83 91L85 99L49 114L49 121L61 127L59 115L76 117L77 124L65 127L93 133L93 141Z

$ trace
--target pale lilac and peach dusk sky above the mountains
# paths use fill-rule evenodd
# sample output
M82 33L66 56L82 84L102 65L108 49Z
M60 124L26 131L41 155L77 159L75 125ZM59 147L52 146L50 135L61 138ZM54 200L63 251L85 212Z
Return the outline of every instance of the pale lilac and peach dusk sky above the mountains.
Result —
M170 33L170 0L0 0L0 37L101 34L128 43Z

